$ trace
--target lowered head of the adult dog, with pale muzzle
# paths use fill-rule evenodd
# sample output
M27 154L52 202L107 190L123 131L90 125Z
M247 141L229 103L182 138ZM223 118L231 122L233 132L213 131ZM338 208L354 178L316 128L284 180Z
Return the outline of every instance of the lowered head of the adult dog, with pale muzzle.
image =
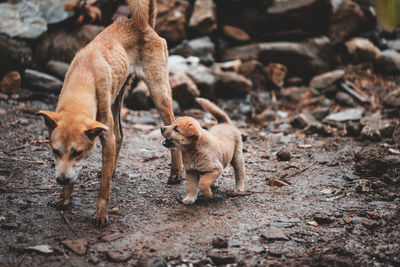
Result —
M56 162L56 181L67 185L74 183L82 163L90 155L96 137L108 130L98 121L83 116L39 111L49 131L49 143Z

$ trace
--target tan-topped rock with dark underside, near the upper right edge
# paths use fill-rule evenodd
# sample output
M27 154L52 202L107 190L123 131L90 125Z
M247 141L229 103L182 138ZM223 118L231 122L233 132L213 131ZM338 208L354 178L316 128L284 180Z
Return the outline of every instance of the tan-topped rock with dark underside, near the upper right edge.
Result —
M373 62L380 53L370 40L362 37L355 37L345 43L347 55L354 63Z

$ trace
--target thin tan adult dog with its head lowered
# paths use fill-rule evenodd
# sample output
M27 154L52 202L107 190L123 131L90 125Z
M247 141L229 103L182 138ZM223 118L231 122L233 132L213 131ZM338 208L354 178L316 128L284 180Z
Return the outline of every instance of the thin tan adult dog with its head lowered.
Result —
M130 74L142 78L165 124L174 121L168 82L168 50L154 31L156 1L128 0L132 18L120 18L77 53L65 77L56 112L40 111L56 160L56 180L64 185L56 205L68 206L73 184L100 137L101 183L94 220L108 222L111 176L122 143L122 90ZM181 155L172 153L170 182L182 176Z

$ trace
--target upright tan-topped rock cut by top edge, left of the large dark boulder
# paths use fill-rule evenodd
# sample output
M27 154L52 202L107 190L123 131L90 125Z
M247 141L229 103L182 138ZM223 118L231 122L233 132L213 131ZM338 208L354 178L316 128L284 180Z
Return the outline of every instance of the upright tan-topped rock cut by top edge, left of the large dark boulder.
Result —
M212 0L196 0L188 27L200 35L209 35L217 29L216 6Z

